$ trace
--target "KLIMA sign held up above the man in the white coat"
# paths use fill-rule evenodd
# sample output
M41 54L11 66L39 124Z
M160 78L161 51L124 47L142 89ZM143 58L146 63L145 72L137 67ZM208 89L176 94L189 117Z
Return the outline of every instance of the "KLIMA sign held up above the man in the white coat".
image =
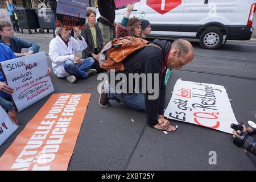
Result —
M85 29L88 0L57 1L57 27Z

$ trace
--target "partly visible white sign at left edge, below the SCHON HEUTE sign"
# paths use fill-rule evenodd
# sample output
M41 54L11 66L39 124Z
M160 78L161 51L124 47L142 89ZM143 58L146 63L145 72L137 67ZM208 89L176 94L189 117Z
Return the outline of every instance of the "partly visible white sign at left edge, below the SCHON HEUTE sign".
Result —
M2 146L16 129L18 129L18 126L11 121L9 115L0 106L0 146Z

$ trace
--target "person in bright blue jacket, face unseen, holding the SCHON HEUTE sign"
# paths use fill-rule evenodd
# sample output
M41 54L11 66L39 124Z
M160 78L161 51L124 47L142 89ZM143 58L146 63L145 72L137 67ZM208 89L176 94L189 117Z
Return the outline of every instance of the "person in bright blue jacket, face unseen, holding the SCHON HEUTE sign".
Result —
M14 52L11 51L10 47L3 43L0 43L0 62L15 59L16 56ZM51 75L51 69L48 68L47 76ZM7 101L11 101L11 94L13 94L14 89L6 84L5 78L2 73L0 73L0 97Z

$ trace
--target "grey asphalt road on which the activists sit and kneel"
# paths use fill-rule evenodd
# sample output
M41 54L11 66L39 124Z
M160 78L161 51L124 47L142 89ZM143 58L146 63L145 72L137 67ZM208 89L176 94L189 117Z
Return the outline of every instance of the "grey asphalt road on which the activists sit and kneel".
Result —
M51 34L19 35L39 44L48 53ZM256 42L228 41L218 50L202 49L193 42L195 59L181 71L172 71L166 106L178 78L223 85L237 121L256 122ZM81 52L79 52L81 55ZM48 65L51 62L48 58ZM165 135L146 125L144 113L112 101L102 108L98 102L97 76L71 84L51 75L55 93L92 93L69 170L255 170L254 164L233 144L232 135L188 123ZM75 86L74 86L75 85ZM0 156L49 98L19 113L20 127L3 146ZM133 119L135 122L131 122ZM217 164L210 165L209 152L216 151Z

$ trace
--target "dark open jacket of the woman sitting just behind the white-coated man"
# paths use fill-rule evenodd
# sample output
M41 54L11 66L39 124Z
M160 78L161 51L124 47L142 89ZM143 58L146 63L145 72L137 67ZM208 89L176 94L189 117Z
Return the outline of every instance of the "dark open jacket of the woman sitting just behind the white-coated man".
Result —
M94 27L96 29L96 37L97 37L97 52L100 52L104 46L103 39L101 36L101 30L98 27L98 24L94 24ZM86 59L92 53L94 53L94 42L93 42L92 31L90 31L89 23L86 24L86 28L81 32L81 35L84 37L85 42L87 43L87 48L84 49L84 51L82 51L82 59Z

